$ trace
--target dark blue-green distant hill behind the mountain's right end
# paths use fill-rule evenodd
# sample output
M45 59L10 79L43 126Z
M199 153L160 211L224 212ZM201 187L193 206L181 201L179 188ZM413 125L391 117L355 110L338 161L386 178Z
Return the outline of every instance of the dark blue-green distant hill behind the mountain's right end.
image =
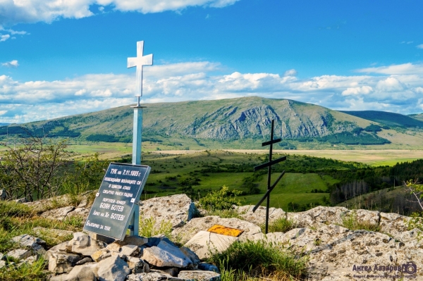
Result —
M341 111L359 118L374 121L389 127L423 127L423 118L385 111Z

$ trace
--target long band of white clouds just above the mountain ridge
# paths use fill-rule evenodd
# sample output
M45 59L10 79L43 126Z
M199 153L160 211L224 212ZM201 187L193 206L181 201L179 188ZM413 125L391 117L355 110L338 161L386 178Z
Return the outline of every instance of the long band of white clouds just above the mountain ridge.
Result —
M345 111L419 113L423 110L422 68L423 64L405 63L371 68L376 75L299 79L296 70L286 70L283 75L224 73L222 65L208 61L152 65L145 68L142 102L263 96ZM359 72L368 73L369 69ZM0 75L0 123L44 120L129 104L135 104L135 73L27 82Z

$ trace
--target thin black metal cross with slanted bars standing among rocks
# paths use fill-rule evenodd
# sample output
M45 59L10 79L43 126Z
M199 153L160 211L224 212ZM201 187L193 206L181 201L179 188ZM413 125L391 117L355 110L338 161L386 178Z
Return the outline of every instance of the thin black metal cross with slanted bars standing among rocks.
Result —
M270 185L270 177L271 177L271 166L279 163L281 161L285 161L286 160L286 156L283 156L281 158L278 158L274 161L271 160L271 154L273 151L273 144L276 144L278 142L281 142L281 139L273 139L273 135L274 135L274 123L275 120L271 120L271 132L270 132L270 140L269 142L263 142L262 146L266 146L266 145L270 145L269 148L269 162L264 163L262 165L259 166L255 166L254 171L256 170L260 170L262 168L266 168L267 167L267 192L266 194L264 194L264 196L262 197L262 199L260 199L259 203L257 203L257 205L252 208L252 212L254 213L257 208L259 208L260 204L262 204L262 202L264 201L264 199L267 199L267 204L266 204L266 234L267 231L269 230L269 205L270 205L270 192L276 187L276 185L278 184L279 180L281 180L281 178L283 177L283 175L285 175L285 171L283 171L281 173L281 175L278 177L278 179L276 180L276 182L274 182L273 185Z

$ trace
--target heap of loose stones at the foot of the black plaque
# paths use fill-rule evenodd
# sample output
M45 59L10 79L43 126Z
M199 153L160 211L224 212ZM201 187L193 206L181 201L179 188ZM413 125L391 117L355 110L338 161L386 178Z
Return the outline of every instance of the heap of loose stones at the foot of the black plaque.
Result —
M69 242L47 251L51 281L220 280L212 265L166 237L125 237L110 244L76 232ZM214 268L217 270L217 268Z

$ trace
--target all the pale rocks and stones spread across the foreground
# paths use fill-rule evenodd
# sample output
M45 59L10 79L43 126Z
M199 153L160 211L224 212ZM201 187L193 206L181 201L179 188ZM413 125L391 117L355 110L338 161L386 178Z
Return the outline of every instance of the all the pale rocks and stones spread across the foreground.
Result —
M81 207L85 208L85 207ZM45 242L29 235L13 240L22 249L6 253L23 262L44 255L49 261L51 280L220 280L216 266L202 263L210 253L224 251L235 242L262 240L307 255L304 280L423 280L423 241L419 230L407 230L410 218L396 213L348 210L342 207L313 208L300 213L286 213L271 208L270 222L279 218L292 220L294 227L285 233L262 233L265 208L252 213L252 206L233 207L241 218L204 216L185 195L150 199L143 202L142 218L152 216L157 225L170 222L172 237L125 237L122 242L106 244L82 232L73 233L71 241L44 250ZM59 213L51 212L51 213ZM67 215L66 215L67 216ZM378 231L348 230L341 226L345 218L372 226ZM209 227L223 225L243 230L238 237L209 232ZM36 232L37 231L37 232ZM38 227L35 233L53 233ZM58 232L56 235L70 235ZM44 237L44 236L42 236ZM0 267L4 266L0 254ZM364 276L364 277L363 277Z

